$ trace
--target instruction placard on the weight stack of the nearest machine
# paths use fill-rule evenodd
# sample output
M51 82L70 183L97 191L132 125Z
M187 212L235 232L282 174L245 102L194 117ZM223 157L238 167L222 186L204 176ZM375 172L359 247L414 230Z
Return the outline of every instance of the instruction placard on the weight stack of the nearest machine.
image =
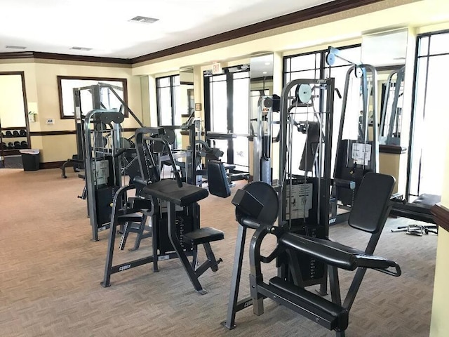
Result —
M312 205L313 185L311 183L286 186L286 220L309 217L309 209ZM290 207L288 201L290 200Z

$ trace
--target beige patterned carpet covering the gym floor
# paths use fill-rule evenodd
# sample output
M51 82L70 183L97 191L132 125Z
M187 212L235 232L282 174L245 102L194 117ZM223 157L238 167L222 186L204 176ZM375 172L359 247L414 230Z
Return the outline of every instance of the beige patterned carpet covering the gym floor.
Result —
M75 173L68 176L60 178L60 170L0 170L0 336L335 336L271 300L260 317L251 308L237 313L232 331L220 325L237 228L231 198L201 201L203 225L225 232L225 240L213 243L215 256L224 260L220 270L200 278L208 294L194 291L178 260L161 261L156 273L144 265L112 275L112 286L102 288L107 232L91 242L86 201L76 198L83 181ZM376 250L396 260L403 275L367 272L349 315L348 337L429 336L436 236L390 232L408 221L389 219ZM330 232L349 245L366 242L347 225ZM138 252L116 253L116 261L148 255L150 241L142 241ZM245 296L247 275L248 263ZM342 287L350 276L342 274Z

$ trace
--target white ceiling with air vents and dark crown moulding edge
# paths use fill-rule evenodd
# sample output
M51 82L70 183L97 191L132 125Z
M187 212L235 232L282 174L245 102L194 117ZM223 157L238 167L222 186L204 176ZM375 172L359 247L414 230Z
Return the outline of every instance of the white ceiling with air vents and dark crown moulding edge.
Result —
M135 58L326 2L330 1L1 0L0 53ZM138 15L159 21L128 21ZM74 46L92 50L76 51Z

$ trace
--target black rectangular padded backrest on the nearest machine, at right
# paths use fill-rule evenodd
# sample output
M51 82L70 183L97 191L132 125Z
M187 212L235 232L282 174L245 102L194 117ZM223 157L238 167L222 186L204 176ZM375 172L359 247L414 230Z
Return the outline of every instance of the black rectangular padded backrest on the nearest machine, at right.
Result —
M351 207L349 225L370 233L382 230L391 208L390 198L395 183L392 176L366 173Z

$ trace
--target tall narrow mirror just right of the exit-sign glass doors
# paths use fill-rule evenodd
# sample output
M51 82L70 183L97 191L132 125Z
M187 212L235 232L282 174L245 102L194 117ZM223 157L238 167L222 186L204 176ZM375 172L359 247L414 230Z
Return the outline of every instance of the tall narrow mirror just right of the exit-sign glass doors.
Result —
M272 183L273 62L273 54L250 59L249 139L253 140L252 176L255 181L262 180L269 184ZM279 124L276 125L279 130Z

